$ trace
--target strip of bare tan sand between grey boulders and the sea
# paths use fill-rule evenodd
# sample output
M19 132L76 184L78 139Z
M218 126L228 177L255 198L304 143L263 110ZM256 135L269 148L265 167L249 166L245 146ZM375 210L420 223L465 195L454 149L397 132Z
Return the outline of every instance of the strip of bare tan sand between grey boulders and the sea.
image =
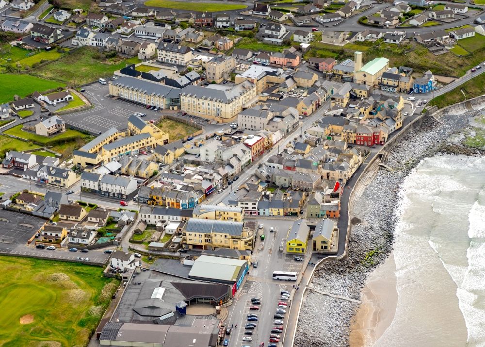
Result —
M395 270L394 256L390 253L366 281L362 289L362 303L351 321L351 347L374 346L391 324L398 299Z

